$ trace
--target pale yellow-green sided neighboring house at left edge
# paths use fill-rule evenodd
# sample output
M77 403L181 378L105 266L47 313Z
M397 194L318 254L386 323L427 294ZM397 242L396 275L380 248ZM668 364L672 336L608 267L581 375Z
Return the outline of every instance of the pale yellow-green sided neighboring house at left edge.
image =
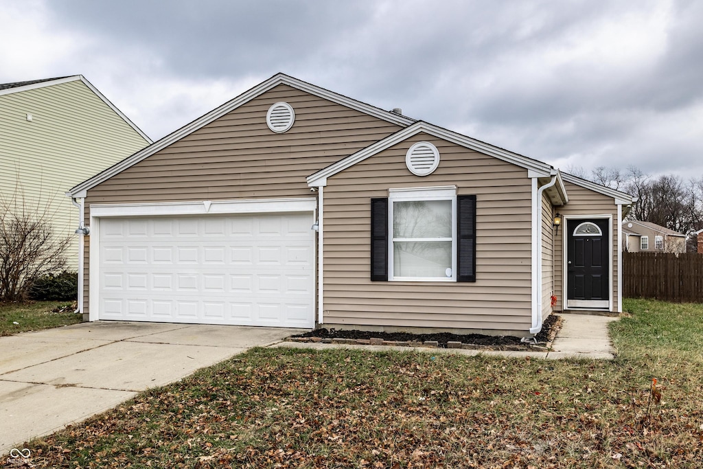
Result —
M67 187L152 143L81 75L0 84L0 202L46 212L71 236L76 269L79 210Z

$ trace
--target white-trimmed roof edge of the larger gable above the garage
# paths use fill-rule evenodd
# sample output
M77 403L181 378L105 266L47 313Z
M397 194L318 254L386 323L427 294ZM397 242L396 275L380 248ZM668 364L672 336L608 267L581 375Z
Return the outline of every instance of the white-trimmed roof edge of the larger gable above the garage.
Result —
M288 86L292 86L293 88L302 91L307 91L307 93L312 94L314 96L325 98L329 101L332 101L333 103L347 106L348 108L358 110L361 113L373 115L375 117L378 117L379 119L400 125L402 127L406 127L407 125L410 125L415 122L415 119L411 119L411 117L407 117L398 113L393 113L392 111L382 110L381 108L377 108L370 104L362 103L361 101L356 101L356 99L348 98L347 96L335 93L334 91L329 91L328 89L321 88L320 86L316 86L314 84L304 82L297 78L290 77L289 75L285 75L285 73L278 73L276 75L273 75L273 77L267 79L265 82L258 84L252 89L245 91L243 94L240 94L236 98L233 98L231 101L227 101L219 108L216 108L210 111L209 113L203 115L202 117L199 117L190 124L187 124L181 127L180 129L174 131L172 134L165 136L163 139L156 141L152 145L144 148L143 150L134 153L134 155L125 158L121 162L118 162L116 165L105 169L105 171L101 172L100 174L96 174L96 176L91 177L91 179L83 181L81 184L78 184L77 186L72 188L67 194L70 194L72 197L82 196L82 193L84 193L85 191L88 191L89 189L97 186L98 184L101 184L101 182L107 181L112 176L115 176L115 174L118 174L124 171L125 169L136 165L141 160L144 160L150 155L156 153L157 151L166 148L171 143L183 139L183 137L188 136L188 134L192 134L194 131L200 129L201 127L205 127L205 125L209 124L210 122L219 119L219 117L222 117L223 115L231 112L232 110L235 110L241 105L248 103L252 99L256 98L261 94L264 94L266 91L269 91L270 89L278 86L279 84L286 84Z

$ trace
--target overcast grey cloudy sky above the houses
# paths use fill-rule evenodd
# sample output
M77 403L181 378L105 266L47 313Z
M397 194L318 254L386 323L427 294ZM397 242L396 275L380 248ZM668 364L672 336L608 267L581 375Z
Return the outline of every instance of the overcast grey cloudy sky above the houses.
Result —
M0 0L0 83L152 139L277 72L568 170L703 176L703 1Z

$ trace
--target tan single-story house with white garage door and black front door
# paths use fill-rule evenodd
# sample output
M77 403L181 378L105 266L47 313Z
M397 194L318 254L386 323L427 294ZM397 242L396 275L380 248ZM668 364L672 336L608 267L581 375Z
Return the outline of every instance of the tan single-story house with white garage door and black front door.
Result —
M530 335L552 295L621 311L630 195L396 111L279 74L78 184L84 318Z

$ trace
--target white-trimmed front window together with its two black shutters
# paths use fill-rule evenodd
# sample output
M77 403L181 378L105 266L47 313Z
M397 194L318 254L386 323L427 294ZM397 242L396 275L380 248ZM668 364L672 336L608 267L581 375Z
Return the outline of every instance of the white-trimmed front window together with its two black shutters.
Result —
M476 196L451 186L371 199L371 280L476 281Z

